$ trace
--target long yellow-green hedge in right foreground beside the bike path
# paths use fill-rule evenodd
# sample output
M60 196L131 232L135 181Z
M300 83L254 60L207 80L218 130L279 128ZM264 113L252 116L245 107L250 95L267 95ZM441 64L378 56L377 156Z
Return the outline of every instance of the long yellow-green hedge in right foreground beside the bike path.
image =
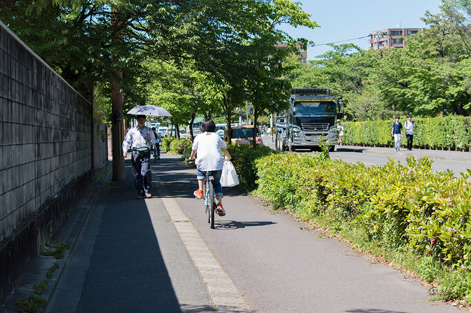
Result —
M256 161L257 195L303 219L328 221L393 251L412 251L419 274L445 299L471 300L471 181L435 173L428 158L366 167L308 155ZM355 237L356 238L356 237ZM431 268L446 267L439 279ZM457 274L458 273L458 274ZM455 278L453 278L455 277Z

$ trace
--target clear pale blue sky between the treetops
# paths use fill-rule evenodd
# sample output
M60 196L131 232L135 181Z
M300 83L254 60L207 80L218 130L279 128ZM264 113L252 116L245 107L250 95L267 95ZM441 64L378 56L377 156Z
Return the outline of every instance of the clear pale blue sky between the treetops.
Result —
M293 0L296 1L296 0ZM311 14L311 20L320 27L308 29L282 26L293 38L303 37L318 46L308 47L307 59L328 50L322 45L367 36L375 30L396 28L424 28L420 20L425 11L438 13L440 0L300 0L303 11ZM368 38L346 41L368 49ZM339 43L338 45L340 45Z

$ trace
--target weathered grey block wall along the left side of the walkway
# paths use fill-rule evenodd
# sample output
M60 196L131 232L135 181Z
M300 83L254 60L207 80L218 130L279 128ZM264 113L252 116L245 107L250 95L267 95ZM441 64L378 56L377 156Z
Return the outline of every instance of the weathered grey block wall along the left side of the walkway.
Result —
M90 102L0 22L0 301L91 181L92 125Z

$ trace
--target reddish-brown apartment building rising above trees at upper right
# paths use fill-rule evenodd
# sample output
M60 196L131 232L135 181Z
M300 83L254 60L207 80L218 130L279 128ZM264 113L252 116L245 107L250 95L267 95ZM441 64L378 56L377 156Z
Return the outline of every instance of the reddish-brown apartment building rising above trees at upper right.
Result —
M369 35L369 49L403 48L406 43L401 38L416 34L418 31L420 28L387 28L374 31Z

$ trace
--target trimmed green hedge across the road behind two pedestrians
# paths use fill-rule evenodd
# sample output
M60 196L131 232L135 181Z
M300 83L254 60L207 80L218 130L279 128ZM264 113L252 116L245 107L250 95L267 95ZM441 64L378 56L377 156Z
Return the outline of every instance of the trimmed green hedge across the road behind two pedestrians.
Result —
M415 148L443 148L471 151L470 117L449 115L434 118L414 118ZM368 146L394 146L391 128L394 121L344 122L344 142ZM404 126L406 118L401 118ZM401 144L406 145L403 130Z

